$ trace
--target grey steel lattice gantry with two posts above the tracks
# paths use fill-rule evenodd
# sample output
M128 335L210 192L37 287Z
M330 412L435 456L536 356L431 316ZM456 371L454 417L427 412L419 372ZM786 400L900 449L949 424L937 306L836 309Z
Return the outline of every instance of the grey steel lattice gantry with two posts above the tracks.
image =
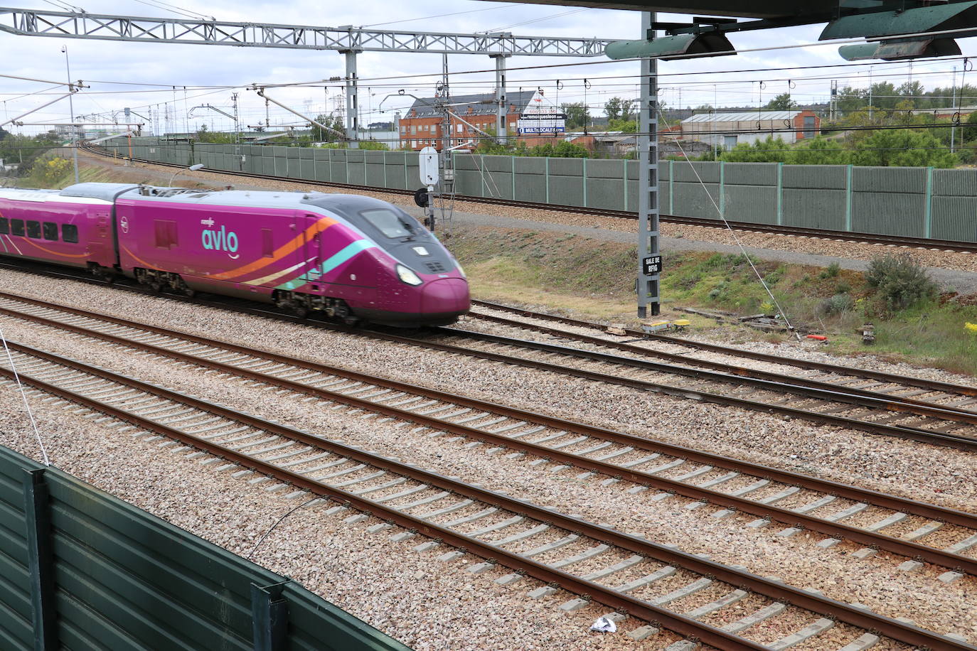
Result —
M230 45L282 50L335 50L346 58L346 136L356 146L358 113L357 54L415 52L485 55L495 59L497 122L506 114L505 60L508 57L603 57L611 39L514 36L509 32L455 34L410 30L363 29L352 25L233 22L228 20L154 19L86 12L49 12L0 7L0 31L21 36L86 38L133 43ZM502 135L505 130L498 129Z

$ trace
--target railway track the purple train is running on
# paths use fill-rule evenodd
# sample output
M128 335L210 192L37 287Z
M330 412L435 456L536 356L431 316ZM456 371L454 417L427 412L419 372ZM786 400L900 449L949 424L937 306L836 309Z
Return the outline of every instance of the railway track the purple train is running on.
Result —
M0 266L3 265L21 270L23 268L22 264L0 264ZM30 267L28 266L28 268ZM36 272L106 285L104 281L93 280L82 272L74 270L50 271L50 269L41 268ZM120 289L141 294L148 293L148 290L124 285ZM188 301L183 297L171 297L170 295L167 295L167 298ZM900 398L857 387L839 389L830 383L827 383L828 386L826 387L826 383L797 381L794 377L786 380L744 377L742 369L738 369L737 374L720 373L691 366L663 364L636 357L507 338L457 328L430 329L434 335L433 338L405 337L386 331L363 330L319 321L303 321L297 317L225 298L211 301L194 299L191 303L234 309L243 313L279 320L302 321L310 325L345 332L355 337L369 337L408 346L420 346L431 350L523 366L608 385L654 391L674 397L735 406L752 411L775 413L822 425L848 427L873 434L895 436L961 450L977 450L977 432L975 432L977 412L954 405L914 400L912 397ZM439 339L446 341L452 339L455 341L469 340L481 344L483 347L449 344L438 341ZM514 350L518 354L502 352L505 349ZM647 351L642 348L642 352ZM561 363L553 363L554 359L559 359ZM689 360L683 359L682 361L688 363ZM609 371L613 371L613 373ZM669 382L665 382L666 379ZM959 387L959 390L965 392L969 388ZM970 400L971 398L965 396L963 399Z

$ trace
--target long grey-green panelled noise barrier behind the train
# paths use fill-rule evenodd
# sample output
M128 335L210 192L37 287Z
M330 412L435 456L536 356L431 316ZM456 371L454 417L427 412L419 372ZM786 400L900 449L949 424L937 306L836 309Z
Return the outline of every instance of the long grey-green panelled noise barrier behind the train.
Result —
M128 155L128 143L103 144ZM133 138L132 153L321 183L416 189L415 151ZM455 153L455 190L474 197L636 211L638 161ZM752 224L977 241L977 169L660 161L662 214Z

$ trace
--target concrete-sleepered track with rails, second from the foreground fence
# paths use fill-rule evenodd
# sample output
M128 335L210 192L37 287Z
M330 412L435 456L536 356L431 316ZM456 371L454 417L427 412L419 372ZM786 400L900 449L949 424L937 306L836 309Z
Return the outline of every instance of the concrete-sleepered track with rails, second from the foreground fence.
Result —
M655 487L665 493L653 500L665 499L670 494L681 495L697 503L722 507L713 515L717 518L734 511L751 513L764 522L787 524L788 529L781 532L784 536L807 529L831 536L826 545L837 539L850 540L868 546L866 549L886 549L909 558L920 558L951 570L946 573L945 581L960 576L958 571L977 576L977 559L961 555L977 547L977 533L974 533L977 516L963 511L84 310L70 308L68 311L67 308L33 302L19 311L11 308L12 303L4 299L4 303L0 303L0 313L313 398L347 404L388 418L433 427L474 441L492 443L497 446L495 450L531 454L540 460L562 465L557 468L580 468L587 473L609 477L604 482L625 479L636 484L630 489L633 493ZM673 478L659 474L690 461L701 464L701 467L691 471L686 469L688 467L679 468L680 474ZM702 483L693 484L694 479ZM736 485L733 481L736 479L741 480L743 486L727 488ZM794 509L775 505L798 494L802 488L814 492L805 504ZM841 502L835 502L837 498L841 498ZM828 514L831 509L826 508L829 505L835 510ZM842 523L869 505L885 509L870 525L855 527ZM814 514L816 511L819 515ZM880 533L910 515L923 518L911 534L894 538ZM945 524L962 529L951 547L937 549L920 542ZM941 535L945 534L946 530L941 531Z

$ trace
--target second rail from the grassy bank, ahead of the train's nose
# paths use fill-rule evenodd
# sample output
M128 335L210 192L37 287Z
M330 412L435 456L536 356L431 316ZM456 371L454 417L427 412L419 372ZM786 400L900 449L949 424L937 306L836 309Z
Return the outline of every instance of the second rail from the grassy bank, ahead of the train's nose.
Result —
M695 357L688 357L686 355L663 352L661 350L654 350L650 348L643 348L641 346L632 346L630 344L611 342L606 339L601 339L599 337L592 337L590 335L581 335L579 333L570 332L567 330L560 330L559 328L548 328L546 326L536 325L532 323L525 323L523 321L516 321L513 319L507 319L501 316L494 316L492 314L471 314L475 318L489 321L491 323L498 323L500 325L510 326L513 328L518 328L522 330L531 330L533 332L542 333L544 335L552 335L553 337L560 337L564 339L573 339L584 344L591 344L593 346L603 346L608 348L616 348L617 350L624 350L626 352L632 352L637 354L643 354L649 357L658 357L658 359L664 359L669 362L674 362L676 364L686 364L689 366L699 366L701 368L711 369L713 371L721 371L724 373L729 373L734 376L743 376L745 378L753 378L756 380L765 380L768 382L775 382L781 385L794 385L797 387L809 387L818 388L827 391L836 392L838 390L843 391L846 394L859 395L863 397L875 398L884 401L886 404L904 404L904 405L916 405L924 408L933 408L939 410L941 413L951 412L960 414L965 420L963 423L969 423L971 425L977 425L977 412L970 411L968 409L958 409L956 407L949 407L944 405L938 405L926 400L916 400L913 398L904 398L898 395L889 395L887 393L880 393L878 391L872 391L867 388L859 387L839 387L836 383L822 382L820 380L810 380L807 378L801 378L797 376L786 376L781 373L772 373L770 371L761 371L757 369L743 368L742 366L734 366L732 364L725 364L723 362L713 362L705 359L697 359ZM894 384L900 384L899 380L893 379ZM961 387L963 388L963 387ZM974 389L977 391L977 389ZM904 409L893 407L892 411L906 411ZM915 413L915 412L911 412ZM922 416L924 414L919 413ZM934 414L925 414L934 415Z

